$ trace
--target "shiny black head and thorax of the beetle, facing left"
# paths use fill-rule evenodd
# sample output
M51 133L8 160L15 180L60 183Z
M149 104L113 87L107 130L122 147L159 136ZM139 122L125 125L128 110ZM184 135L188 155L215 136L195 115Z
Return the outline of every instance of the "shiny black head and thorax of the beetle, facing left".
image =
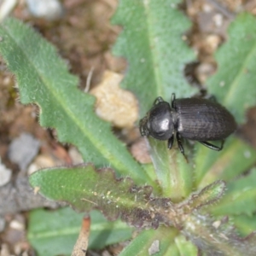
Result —
M158 102L140 120L140 132L142 136L167 140L172 137L173 131L172 113L168 102Z

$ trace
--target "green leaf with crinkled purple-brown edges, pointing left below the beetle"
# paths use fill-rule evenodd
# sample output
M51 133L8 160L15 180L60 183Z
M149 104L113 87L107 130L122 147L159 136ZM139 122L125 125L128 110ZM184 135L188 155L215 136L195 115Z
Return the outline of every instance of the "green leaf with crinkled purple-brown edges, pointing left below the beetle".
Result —
M165 222L156 208L165 212L171 201L153 199L152 187L137 187L129 177L116 179L112 169L92 165L44 169L32 173L30 183L44 197L67 201L79 212L100 209L110 220L120 217L138 227L157 228Z

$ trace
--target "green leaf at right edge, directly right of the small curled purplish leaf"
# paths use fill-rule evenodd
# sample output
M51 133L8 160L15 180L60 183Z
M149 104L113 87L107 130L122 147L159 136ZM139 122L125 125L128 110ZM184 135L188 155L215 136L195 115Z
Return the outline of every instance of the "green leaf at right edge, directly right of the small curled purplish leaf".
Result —
M256 169L247 176L227 184L224 197L214 207L210 207L215 215L247 214L252 216L256 211Z

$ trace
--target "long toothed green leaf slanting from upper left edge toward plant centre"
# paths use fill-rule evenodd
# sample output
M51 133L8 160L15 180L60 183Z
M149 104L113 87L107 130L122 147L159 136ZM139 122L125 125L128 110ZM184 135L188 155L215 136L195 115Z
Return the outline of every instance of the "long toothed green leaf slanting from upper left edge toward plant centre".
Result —
M0 53L15 73L20 101L38 104L41 125L54 127L61 143L76 145L84 161L113 166L119 174L154 185L113 136L110 125L96 117L93 96L78 90L78 79L68 73L52 45L14 19L1 24L0 37Z

